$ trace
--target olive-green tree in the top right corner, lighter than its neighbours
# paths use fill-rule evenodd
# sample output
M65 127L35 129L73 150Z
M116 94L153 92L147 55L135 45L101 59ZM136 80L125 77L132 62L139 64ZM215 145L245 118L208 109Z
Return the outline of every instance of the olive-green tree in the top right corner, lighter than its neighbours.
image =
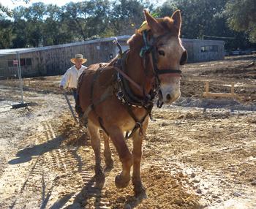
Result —
M256 1L230 0L226 4L227 21L235 31L245 31L256 42Z

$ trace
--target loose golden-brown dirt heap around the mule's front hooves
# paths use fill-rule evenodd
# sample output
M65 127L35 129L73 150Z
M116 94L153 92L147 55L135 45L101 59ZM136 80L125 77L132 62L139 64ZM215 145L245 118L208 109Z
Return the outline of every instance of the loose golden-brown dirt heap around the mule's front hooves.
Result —
M199 196L189 189L189 180L182 172L170 175L160 167L151 166L143 169L141 176L148 199L140 202L134 197L132 186L127 189L116 189L111 183L105 196L110 205L115 205L113 208L201 208Z

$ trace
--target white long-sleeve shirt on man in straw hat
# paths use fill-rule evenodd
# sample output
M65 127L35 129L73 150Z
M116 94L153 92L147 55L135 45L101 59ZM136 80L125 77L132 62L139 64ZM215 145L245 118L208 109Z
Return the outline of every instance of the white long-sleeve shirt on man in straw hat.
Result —
M74 66L67 69L65 74L61 79L60 86L64 88L77 88L78 86L78 77L82 74L83 70L86 69L86 66L81 66L80 69L77 69Z

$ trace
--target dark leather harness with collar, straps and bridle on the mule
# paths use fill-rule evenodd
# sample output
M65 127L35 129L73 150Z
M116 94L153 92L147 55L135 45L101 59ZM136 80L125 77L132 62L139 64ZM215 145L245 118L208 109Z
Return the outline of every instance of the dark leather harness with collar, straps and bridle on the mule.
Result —
M91 111L94 111L94 113L97 115L98 121L102 129L105 131L106 134L108 134L107 130L104 127L102 118L97 114L97 111L95 110L95 107L99 105L100 103L104 102L108 97L116 95L117 98L121 101L121 103L126 108L129 115L133 118L135 121L135 126L132 129L132 131L128 134L126 134L126 137L132 137L132 135L138 130L140 135L143 134L143 122L145 121L146 117L149 115L151 118L151 110L154 106L154 98L157 95L159 91L160 86L160 80L159 75L162 74L173 74L174 76L178 75L181 76L181 70L176 69L158 69L157 68L157 42L162 37L165 37L167 34L163 34L156 39L154 37L151 37L151 40L148 41L148 31L143 31L143 41L144 46L140 50L140 57L143 58L143 63L146 62L146 55L151 53L152 60L153 60L153 72L155 77L155 86L149 94L145 93L144 88L141 88L138 86L137 83L135 83L126 72L126 65L127 65L127 57L129 55L129 50L125 51L124 53L121 53L121 50L119 51L119 56L121 58L118 58L116 63L114 64L114 69L116 69L116 77L114 82L108 86L108 88L105 89L104 93L98 99L96 102L93 100L94 95L94 83L96 82L97 78L99 77L100 72L104 70L104 67L99 65L99 68L94 73L94 77L91 83L91 90L90 90L90 105L86 108L85 112L83 113L82 118L80 118L80 121L84 126L87 125L87 118ZM121 48L118 42L116 42L119 49ZM146 72L146 66L144 66L145 72ZM80 77L80 80L82 80L82 77ZM129 88L129 83L131 83L135 88L138 88L140 93L143 94L143 96L135 95L132 90ZM137 118L137 116L133 113L132 107L140 107L144 108L146 110L146 115L143 116L141 120ZM162 103L159 104L159 101L157 102L157 107L161 108ZM151 118L152 120L152 118Z

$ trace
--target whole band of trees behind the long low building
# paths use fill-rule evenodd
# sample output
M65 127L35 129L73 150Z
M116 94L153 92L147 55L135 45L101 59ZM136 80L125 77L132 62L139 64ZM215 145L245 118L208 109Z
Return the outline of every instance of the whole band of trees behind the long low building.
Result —
M134 34L144 21L144 8L156 17L181 9L183 38L231 37L225 39L228 48L250 46L247 34L255 40L255 0L167 0L161 7L151 2L86 0L63 7L39 2L12 11L0 3L0 48Z

